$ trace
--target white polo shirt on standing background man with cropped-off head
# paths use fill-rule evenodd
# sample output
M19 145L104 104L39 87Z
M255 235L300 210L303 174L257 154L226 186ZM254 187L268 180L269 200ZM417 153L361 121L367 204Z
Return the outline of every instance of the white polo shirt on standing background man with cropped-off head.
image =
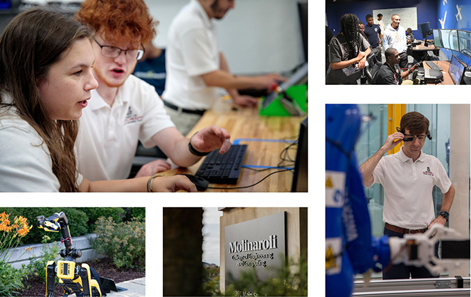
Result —
M220 68L216 29L204 8L191 0L172 20L166 50L167 79L162 98L186 109L210 109L217 87L208 87L200 75Z

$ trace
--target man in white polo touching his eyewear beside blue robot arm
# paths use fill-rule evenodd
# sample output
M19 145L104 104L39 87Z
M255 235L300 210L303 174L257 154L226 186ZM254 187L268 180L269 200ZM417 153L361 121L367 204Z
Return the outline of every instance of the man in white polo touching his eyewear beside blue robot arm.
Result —
M412 111L402 116L398 132L389 135L383 146L360 167L363 184L384 188L384 235L403 237L405 233L423 233L432 224L445 225L454 199L454 187L441 162L423 153L426 138L432 139L429 120ZM398 153L385 153L404 141ZM432 190L443 194L441 211L434 212ZM438 257L438 244L436 245ZM392 265L383 271L383 279L432 278L425 267Z

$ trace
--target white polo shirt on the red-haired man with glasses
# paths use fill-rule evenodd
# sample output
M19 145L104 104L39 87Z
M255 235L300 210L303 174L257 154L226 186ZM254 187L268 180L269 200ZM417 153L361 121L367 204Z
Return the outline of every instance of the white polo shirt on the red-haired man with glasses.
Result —
M138 140L155 146L152 136L172 126L155 88L134 75L118 88L113 106L92 90L75 142L78 170L91 181L125 179Z

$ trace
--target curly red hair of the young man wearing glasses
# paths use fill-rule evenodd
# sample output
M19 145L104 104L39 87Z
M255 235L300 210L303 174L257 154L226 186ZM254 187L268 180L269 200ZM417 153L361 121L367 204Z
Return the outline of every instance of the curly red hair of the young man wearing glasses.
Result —
M85 0L75 18L117 43L146 44L154 39L159 23L152 19L143 0Z

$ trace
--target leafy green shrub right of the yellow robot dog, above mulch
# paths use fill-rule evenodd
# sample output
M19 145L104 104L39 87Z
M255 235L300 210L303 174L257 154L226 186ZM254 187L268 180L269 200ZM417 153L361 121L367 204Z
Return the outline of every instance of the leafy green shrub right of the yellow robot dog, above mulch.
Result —
M118 268L145 268L145 222L132 220L116 224L112 218L99 218L91 246L111 258Z

